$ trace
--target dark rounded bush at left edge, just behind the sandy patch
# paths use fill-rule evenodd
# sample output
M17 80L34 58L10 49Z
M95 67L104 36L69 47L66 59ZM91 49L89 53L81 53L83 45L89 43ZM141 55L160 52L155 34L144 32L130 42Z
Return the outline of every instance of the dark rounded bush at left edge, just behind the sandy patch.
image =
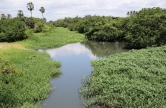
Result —
M0 42L14 42L27 39L27 27L19 19L0 20Z

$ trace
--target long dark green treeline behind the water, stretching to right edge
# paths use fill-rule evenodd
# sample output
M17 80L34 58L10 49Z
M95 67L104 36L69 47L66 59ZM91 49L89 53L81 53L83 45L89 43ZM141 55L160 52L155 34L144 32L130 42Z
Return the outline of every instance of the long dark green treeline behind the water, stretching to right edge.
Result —
M143 8L127 12L127 16L77 16L59 19L53 24L83 33L89 40L124 41L128 48L166 44L166 9Z

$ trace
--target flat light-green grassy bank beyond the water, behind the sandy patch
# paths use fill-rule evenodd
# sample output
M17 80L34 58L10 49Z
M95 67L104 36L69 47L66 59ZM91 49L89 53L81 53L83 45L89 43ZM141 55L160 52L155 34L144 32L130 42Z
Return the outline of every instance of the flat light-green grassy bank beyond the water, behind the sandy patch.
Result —
M17 42L27 48L45 49L59 47L68 43L80 42L85 39L83 34L69 31L67 28L57 27L47 33L35 33L28 40Z

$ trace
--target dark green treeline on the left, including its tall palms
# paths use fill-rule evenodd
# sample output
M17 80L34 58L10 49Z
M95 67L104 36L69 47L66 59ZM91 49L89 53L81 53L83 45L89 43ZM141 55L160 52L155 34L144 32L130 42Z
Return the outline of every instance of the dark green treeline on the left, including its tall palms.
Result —
M18 10L17 17L12 18L10 14L0 15L0 42L15 42L33 37L33 33L47 32L54 28L50 23L46 22L43 13L44 7L39 10L43 18L32 17L34 4L27 3L27 8L31 12L31 17L24 16L22 10Z

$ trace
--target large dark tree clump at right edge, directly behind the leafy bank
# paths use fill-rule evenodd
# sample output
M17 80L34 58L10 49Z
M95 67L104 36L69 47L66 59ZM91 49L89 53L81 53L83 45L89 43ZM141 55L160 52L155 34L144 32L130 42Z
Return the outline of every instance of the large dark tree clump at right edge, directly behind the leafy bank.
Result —
M128 19L130 20L130 19ZM165 27L166 15L152 15L133 17L130 23L125 25L124 29L125 40L128 42L127 46L132 48L144 48L156 45L166 44L165 42Z

